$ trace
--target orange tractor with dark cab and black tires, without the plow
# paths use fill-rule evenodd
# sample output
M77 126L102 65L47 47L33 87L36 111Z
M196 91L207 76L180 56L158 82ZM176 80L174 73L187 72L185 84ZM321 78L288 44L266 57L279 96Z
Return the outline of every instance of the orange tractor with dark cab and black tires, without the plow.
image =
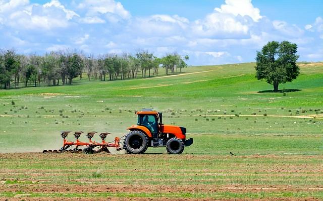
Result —
M136 113L137 125L128 127L124 140L127 153L142 154L148 147L166 147L170 154L181 154L185 146L193 144L193 138L186 139L186 128L163 124L163 114L150 109Z

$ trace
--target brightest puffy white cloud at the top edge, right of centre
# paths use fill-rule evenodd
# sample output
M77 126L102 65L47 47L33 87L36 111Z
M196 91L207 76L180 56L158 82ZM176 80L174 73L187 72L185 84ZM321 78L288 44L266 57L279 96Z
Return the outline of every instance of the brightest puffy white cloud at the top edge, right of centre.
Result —
M225 5L221 5L221 8L215 8L214 11L234 16L249 16L255 22L262 18L260 10L253 7L251 0L226 0Z

